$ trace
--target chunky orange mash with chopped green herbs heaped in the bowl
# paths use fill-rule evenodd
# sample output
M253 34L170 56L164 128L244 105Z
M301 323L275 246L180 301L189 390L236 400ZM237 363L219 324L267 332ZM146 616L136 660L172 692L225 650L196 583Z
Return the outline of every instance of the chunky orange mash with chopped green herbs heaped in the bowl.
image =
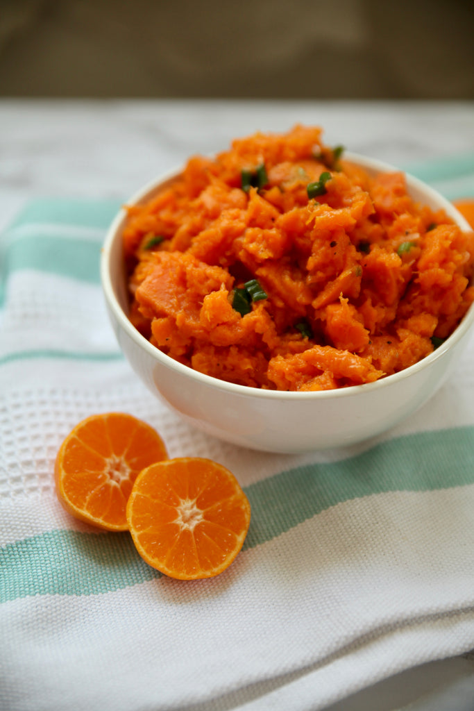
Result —
M163 353L240 385L330 390L397 373L456 328L474 233L321 133L237 139L127 208L129 318Z

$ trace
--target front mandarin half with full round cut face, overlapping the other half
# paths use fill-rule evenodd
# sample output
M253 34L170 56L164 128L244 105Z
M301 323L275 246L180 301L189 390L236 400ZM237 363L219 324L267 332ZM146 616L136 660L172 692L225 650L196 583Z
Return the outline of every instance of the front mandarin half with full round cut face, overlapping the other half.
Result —
M224 466L182 457L141 471L126 518L149 565L169 577L193 580L213 577L235 560L249 529L250 505Z

